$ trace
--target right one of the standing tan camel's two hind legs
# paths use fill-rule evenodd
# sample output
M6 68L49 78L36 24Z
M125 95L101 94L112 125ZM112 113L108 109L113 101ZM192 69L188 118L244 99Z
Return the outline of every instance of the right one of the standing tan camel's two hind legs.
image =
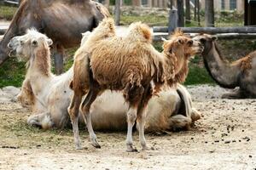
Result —
M95 101L97 94L99 94L99 91L89 90L89 93L87 94L83 104L81 105L81 112L84 115L84 122L86 122L86 126L90 135L90 143L96 148L101 148L101 145L97 141L96 133L94 133L90 118L90 105Z

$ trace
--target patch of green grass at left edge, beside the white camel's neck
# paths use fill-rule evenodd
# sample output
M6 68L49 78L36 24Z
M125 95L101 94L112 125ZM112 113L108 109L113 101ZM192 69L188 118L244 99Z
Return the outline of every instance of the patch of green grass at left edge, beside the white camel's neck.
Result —
M9 58L0 67L0 88L5 86L20 87L25 78L26 68L24 62L17 62Z

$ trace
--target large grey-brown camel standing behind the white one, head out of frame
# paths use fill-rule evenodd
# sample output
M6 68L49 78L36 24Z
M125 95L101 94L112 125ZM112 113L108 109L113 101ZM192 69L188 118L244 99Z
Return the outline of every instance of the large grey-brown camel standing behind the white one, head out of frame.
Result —
M34 27L55 42L55 72L60 74L64 48L79 45L81 33L91 31L108 15L107 8L90 0L23 0L0 42L0 65L8 58L9 40Z

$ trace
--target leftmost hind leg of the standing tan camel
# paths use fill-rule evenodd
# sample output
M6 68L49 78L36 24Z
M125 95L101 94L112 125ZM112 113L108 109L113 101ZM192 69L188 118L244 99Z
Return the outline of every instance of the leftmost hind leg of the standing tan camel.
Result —
M74 93L68 113L72 122L74 143L77 150L81 150L81 139L79 137L79 105L81 104L82 94Z

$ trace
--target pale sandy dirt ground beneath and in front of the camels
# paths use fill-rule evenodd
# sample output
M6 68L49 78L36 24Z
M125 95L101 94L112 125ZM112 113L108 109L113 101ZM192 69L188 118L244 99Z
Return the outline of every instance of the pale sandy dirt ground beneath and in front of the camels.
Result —
M9 91L0 90L0 169L256 169L256 99L219 99L223 88L189 87L201 120L190 131L147 134L154 150L140 150L134 133L137 153L125 152L125 132L97 132L95 149L83 129L84 150L74 150L71 129L28 127L30 112Z

